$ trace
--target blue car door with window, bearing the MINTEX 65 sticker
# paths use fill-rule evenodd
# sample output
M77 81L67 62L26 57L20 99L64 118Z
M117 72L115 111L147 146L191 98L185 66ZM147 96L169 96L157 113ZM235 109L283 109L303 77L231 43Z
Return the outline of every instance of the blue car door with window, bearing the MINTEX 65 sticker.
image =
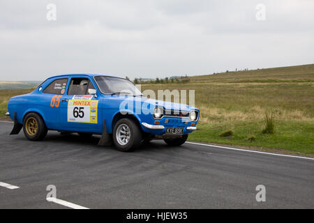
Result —
M67 93L61 99L61 128L70 132L101 133L101 112L98 112L98 93L91 95L89 89L96 89L87 76L70 78Z

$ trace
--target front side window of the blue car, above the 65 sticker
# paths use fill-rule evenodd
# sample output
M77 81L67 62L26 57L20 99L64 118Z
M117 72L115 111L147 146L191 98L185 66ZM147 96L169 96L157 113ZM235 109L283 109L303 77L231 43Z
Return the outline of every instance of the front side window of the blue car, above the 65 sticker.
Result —
M72 78L68 88L68 95L87 95L89 89L95 89L87 78Z

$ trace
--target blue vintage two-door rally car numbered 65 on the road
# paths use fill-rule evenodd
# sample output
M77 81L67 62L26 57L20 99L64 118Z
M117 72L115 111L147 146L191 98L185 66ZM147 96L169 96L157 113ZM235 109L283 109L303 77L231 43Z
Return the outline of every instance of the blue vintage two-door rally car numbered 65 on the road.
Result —
M39 141L48 130L101 134L99 145L131 151L142 141L164 139L180 146L196 130L200 110L145 97L128 79L112 75L59 75L33 92L10 98L7 116L15 122L10 134L24 131Z

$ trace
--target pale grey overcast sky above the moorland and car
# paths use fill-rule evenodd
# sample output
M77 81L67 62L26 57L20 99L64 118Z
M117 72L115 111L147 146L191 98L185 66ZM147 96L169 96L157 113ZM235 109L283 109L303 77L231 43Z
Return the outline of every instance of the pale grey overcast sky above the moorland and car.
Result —
M57 20L47 20L47 4ZM266 20L255 7L266 6ZM313 0L1 0L0 80L130 78L314 63ZM261 15L261 14L258 14Z

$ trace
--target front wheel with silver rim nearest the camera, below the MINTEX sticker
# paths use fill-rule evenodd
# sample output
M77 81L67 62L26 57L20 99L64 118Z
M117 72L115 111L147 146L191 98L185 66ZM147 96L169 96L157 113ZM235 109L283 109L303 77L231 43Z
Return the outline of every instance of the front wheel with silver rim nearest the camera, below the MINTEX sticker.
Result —
M114 126L112 138L114 146L119 151L129 152L140 146L142 132L135 121L130 118L122 118Z

